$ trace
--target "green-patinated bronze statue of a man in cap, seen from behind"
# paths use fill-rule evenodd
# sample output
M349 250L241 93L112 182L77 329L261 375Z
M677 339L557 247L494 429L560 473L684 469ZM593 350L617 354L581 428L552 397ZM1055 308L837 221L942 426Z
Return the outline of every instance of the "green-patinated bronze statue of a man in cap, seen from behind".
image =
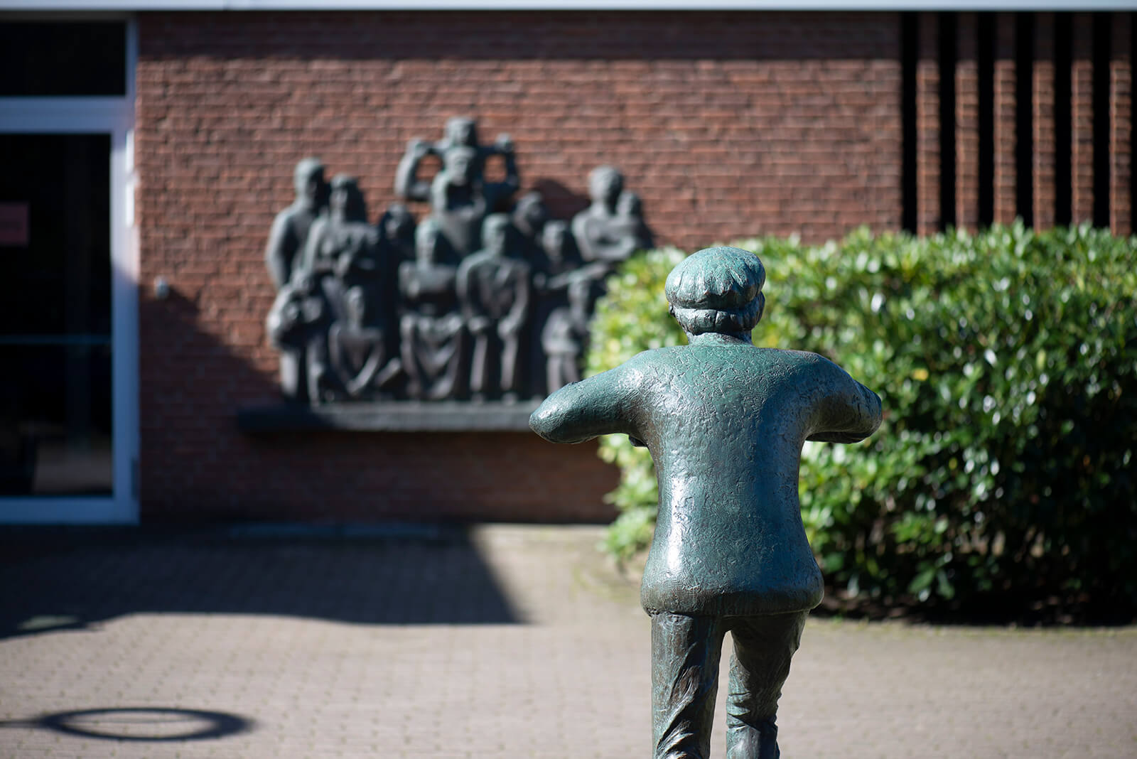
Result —
M856 442L880 424L880 399L832 361L752 344L764 283L748 251L690 256L664 287L689 344L566 385L530 419L553 442L626 434L655 461L659 512L640 600L652 616L656 759L708 756L727 631L727 756L779 756L778 699L822 597L797 498L802 444Z

